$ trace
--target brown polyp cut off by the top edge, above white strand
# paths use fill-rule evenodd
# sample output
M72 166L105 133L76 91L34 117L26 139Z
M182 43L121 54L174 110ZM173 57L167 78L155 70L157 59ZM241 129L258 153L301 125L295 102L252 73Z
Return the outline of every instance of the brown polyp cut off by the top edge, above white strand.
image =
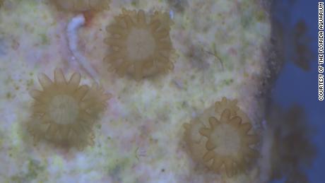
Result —
M64 11L91 11L109 9L110 0L52 0Z

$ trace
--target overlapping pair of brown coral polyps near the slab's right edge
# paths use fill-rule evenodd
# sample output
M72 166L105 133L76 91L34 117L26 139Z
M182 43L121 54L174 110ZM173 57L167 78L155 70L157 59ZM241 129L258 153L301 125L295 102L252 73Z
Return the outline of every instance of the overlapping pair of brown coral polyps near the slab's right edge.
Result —
M240 117L242 113L236 103L237 100L223 98L222 102L216 103L224 108L221 114L217 108L211 107L189 124L184 124L184 138L191 157L213 172L225 172L228 177L246 171L259 155L252 148L259 142L259 136L252 132L250 122L242 121L248 118Z

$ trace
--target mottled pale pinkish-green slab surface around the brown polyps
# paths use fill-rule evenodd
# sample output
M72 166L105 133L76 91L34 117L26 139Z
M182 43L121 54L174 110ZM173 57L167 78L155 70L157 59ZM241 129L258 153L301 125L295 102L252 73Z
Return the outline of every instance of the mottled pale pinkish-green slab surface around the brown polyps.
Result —
M178 54L173 71L141 82L107 71L105 27L122 8L170 13ZM66 151L32 145L28 92L40 87L38 73L52 76L57 67L66 76L80 72L81 84L93 82L67 42L66 26L76 14L45 0L5 0L1 6L0 182L259 182L258 168L231 179L198 172L182 147L182 124L223 96L237 98L259 128L262 101L256 95L267 75L263 51L270 25L258 1L116 0L109 11L83 15L78 49L112 98L94 128L95 145Z

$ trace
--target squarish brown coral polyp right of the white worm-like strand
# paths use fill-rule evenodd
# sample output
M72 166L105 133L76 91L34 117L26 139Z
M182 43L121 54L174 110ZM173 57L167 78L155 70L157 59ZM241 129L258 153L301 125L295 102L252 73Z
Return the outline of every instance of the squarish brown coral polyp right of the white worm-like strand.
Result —
M110 36L105 39L111 48L104 59L110 64L110 70L119 76L129 73L139 80L173 69L172 20L167 13L146 16L143 10L122 9L122 14L114 20L106 28Z

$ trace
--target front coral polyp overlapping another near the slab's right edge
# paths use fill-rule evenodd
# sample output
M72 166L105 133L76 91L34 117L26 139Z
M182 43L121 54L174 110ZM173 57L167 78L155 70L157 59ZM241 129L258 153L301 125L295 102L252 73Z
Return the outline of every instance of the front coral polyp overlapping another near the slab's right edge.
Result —
M237 171L247 167L246 158L255 158L257 153L250 145L259 142L256 135L248 135L252 129L251 124L242 124L240 117L230 118L230 110L224 110L221 119L215 117L209 119L210 128L200 129L200 134L206 136L206 149L203 156L205 162L213 163L210 168L219 171L221 165L225 165L228 175L234 175Z

